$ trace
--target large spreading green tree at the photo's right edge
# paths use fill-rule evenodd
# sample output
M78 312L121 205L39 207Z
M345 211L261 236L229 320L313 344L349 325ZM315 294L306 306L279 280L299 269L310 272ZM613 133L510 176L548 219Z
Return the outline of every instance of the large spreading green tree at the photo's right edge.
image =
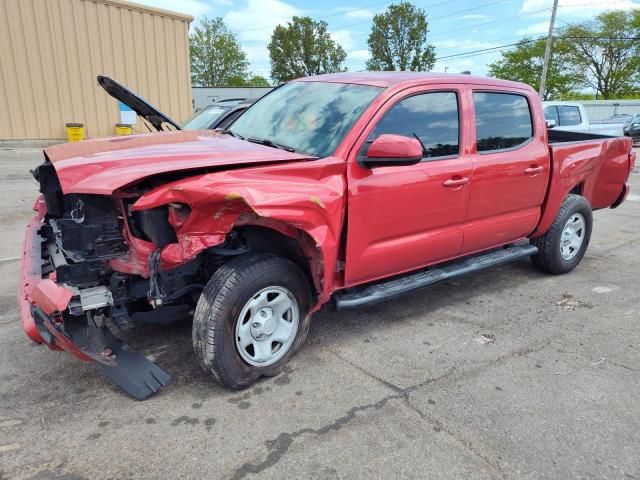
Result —
M602 98L624 96L640 87L640 10L613 10L595 20L564 28L569 54L585 82Z

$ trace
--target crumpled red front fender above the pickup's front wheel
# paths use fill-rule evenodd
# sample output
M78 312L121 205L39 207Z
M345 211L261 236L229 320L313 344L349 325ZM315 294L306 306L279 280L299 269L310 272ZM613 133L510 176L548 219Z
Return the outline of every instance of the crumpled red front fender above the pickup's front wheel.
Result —
M163 268L167 269L219 245L234 226L268 226L273 222L274 226L304 232L318 251L318 255L312 255L311 272L319 287L320 305L334 289L345 191L345 163L329 157L174 181L143 195L133 209L145 210L170 203L191 208L189 218L176 232L177 243L162 250L160 258ZM287 228L280 230L287 233Z

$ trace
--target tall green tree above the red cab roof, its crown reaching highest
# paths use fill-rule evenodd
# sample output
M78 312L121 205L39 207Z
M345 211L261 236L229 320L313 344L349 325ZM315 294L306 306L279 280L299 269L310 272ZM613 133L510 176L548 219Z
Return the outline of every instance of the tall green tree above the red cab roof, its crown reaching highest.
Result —
M427 14L408 2L391 4L373 17L367 40L371 58L368 70L428 71L436 60L435 48L427 43Z

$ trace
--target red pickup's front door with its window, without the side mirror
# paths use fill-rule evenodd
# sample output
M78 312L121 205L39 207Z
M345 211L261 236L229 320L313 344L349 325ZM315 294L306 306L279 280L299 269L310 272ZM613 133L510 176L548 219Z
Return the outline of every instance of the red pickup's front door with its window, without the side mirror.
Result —
M379 111L349 159L346 286L395 275L458 255L471 159L460 123L463 91L414 89ZM417 137L423 161L365 168L358 156L379 135ZM361 158L361 157L360 157Z

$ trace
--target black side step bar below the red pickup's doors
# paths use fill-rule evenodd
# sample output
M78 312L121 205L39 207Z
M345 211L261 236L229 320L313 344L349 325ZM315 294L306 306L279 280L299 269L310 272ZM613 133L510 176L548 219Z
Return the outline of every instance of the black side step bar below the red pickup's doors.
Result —
M463 260L445 263L427 270L395 277L391 280L382 280L378 283L355 287L349 289L349 291L338 292L333 298L338 310L358 308L383 302L444 280L511 263L536 253L538 253L538 247L534 245L513 245Z

